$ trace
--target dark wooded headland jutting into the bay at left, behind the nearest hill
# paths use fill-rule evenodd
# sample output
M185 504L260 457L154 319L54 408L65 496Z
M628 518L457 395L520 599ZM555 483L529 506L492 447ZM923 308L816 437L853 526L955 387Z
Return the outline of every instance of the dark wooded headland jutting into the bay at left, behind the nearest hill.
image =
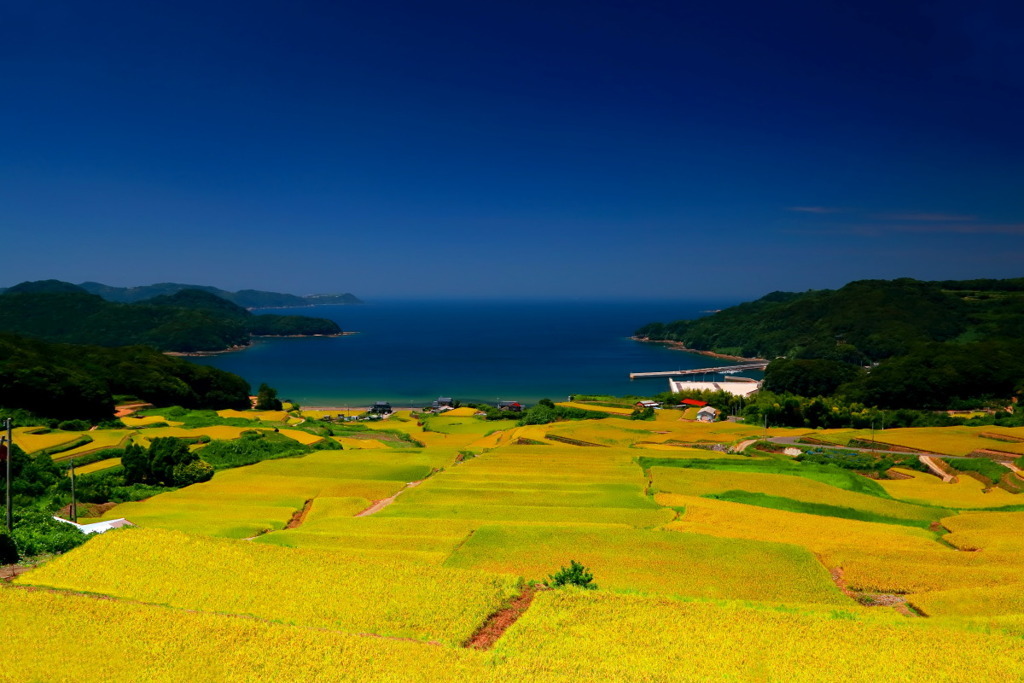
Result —
M284 300L269 296L242 299L264 303ZM241 348L248 346L253 337L343 334L334 321L305 315L257 315L207 289L179 289L172 294L121 303L55 280L22 283L0 294L0 332L48 342L144 345L177 353Z

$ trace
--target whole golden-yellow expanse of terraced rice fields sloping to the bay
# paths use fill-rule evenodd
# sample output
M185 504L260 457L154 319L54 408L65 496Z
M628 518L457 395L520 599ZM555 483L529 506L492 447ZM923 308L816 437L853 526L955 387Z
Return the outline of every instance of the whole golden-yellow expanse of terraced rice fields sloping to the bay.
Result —
M984 510L1024 499L983 493L970 477L943 484L907 472L872 481L787 458L693 449L683 444L730 445L762 430L670 413L525 427L452 413L424 425L408 414L357 431L335 425L344 451L220 470L211 481L117 506L104 517L142 528L93 539L0 587L0 620L17 626L0 641L4 674L1024 679L1024 512ZM969 447L981 437L944 438ZM709 498L737 492L801 511ZM525 582L570 560L594 572L597 591L542 590L493 649L464 646ZM873 593L886 594L883 605L906 600L928 616L854 599ZM80 647L95 624L104 647ZM152 645L144 656L134 654L139 643ZM27 648L38 656L20 656Z

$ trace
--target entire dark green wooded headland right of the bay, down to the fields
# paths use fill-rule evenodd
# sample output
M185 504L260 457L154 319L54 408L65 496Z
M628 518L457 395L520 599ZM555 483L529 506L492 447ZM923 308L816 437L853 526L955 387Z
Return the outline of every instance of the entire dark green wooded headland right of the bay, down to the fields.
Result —
M773 292L635 332L686 348L772 358L767 391L880 408L944 409L1024 392L1024 279L858 281Z

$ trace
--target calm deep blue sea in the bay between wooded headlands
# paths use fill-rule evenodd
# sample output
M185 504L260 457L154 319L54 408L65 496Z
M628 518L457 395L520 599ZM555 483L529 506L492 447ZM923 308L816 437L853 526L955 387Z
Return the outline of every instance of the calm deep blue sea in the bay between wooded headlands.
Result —
M254 388L266 382L303 405L420 405L438 395L532 403L574 393L652 394L668 381L631 381L629 373L729 364L632 341L633 331L730 303L383 301L274 309L257 312L329 317L359 334L263 340L195 360L237 373Z

